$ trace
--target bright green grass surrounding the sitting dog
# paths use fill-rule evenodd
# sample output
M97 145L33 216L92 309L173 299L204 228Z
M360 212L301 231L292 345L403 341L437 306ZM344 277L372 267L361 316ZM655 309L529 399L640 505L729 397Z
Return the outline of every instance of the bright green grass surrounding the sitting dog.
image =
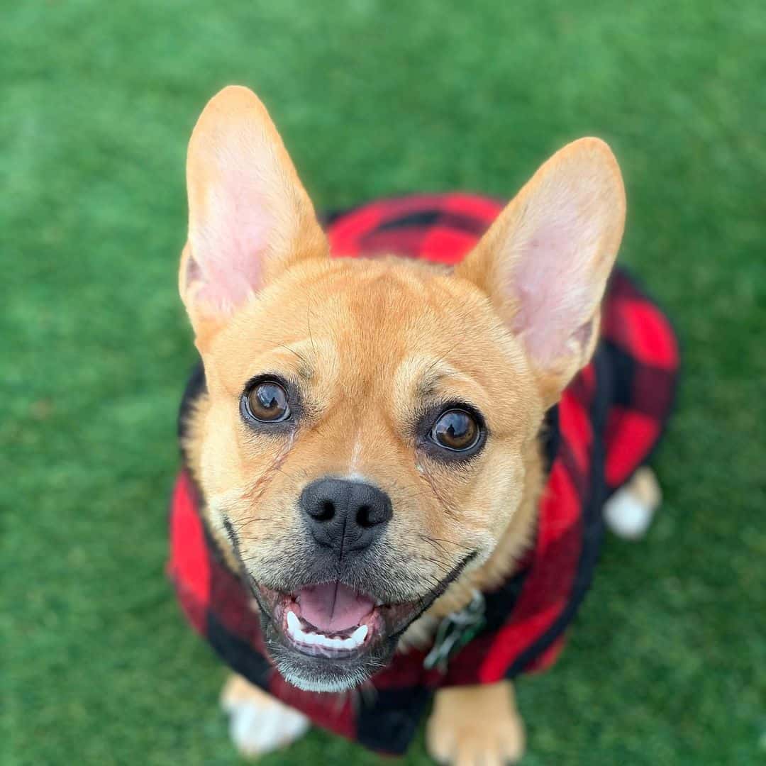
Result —
M766 762L766 13L720 3L5 3L2 764L234 764L163 575L191 126L254 87L319 208L510 196L603 136L683 340L648 538L607 541L525 764ZM422 741L407 762L425 762ZM312 733L264 764L373 764Z

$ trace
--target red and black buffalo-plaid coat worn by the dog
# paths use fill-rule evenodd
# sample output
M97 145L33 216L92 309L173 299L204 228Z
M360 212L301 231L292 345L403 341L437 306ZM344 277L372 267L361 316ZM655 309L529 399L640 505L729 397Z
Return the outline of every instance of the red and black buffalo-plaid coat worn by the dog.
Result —
M502 209L476 195L416 195L375 201L328 218L338 256L397 253L455 264ZM200 515L187 473L172 497L169 573L188 620L235 670L317 725L378 751L406 750L440 686L494 683L549 666L591 583L604 501L646 462L673 404L679 355L663 313L622 270L604 299L593 360L548 413L548 481L535 544L517 571L484 594L482 632L450 660L425 669L427 651L394 657L373 689L337 696L301 692L282 679L264 649L257 614L241 580L224 565ZM188 405L204 390L198 372Z

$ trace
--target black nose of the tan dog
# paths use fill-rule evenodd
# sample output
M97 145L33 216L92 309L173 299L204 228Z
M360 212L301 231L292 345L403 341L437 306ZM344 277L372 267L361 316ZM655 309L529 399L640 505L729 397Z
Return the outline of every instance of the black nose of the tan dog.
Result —
M391 499L371 484L319 479L300 496L306 523L319 545L340 557L364 550L391 519Z

